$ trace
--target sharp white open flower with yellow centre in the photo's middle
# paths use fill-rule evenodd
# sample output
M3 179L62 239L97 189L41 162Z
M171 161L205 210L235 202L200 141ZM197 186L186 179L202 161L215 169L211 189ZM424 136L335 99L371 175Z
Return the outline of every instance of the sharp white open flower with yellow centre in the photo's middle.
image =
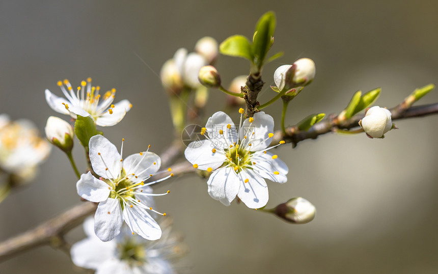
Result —
M207 140L190 143L184 154L195 168L211 172L207 185L213 199L229 206L237 196L249 208L260 208L269 199L264 178L287 181L285 163L267 152L284 141L269 147L274 125L271 116L259 112L242 123L244 109L239 113L238 129L227 114L213 114L201 131Z

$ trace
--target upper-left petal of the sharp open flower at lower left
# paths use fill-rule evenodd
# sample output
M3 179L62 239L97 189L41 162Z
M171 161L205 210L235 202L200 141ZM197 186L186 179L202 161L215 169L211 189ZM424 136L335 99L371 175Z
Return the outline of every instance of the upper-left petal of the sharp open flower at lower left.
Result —
M122 162L120 161L122 156L120 156L116 146L104 136L95 135L90 139L89 148L91 166L94 172L103 178L117 179L122 170Z

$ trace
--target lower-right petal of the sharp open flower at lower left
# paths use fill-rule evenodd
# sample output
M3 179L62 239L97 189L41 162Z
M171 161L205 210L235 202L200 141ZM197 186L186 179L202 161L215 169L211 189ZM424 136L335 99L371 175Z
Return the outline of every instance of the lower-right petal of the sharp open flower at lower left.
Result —
M146 209L139 206L125 206L123 218L132 232L147 240L157 240L161 237L161 228L149 215Z

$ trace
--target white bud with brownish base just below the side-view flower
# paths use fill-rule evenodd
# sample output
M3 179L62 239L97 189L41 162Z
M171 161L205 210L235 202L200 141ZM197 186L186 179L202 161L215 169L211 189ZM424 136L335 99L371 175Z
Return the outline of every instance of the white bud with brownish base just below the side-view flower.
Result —
M73 148L73 127L61 118L50 116L45 127L47 140L65 152Z

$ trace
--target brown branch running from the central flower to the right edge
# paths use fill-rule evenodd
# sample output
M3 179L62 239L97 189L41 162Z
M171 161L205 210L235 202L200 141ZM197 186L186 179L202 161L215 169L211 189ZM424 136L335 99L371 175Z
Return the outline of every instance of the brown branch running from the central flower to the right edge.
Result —
M405 104L402 102L391 108L390 111L392 113L392 120L422 117L438 113L438 103L405 108ZM284 140L286 143L292 143L292 147L295 147L298 142L306 139L316 139L319 135L336 131L337 129L358 127L358 123L362 118L364 118L364 114L355 115L350 119L341 121L336 115L330 115L329 118L323 119L306 131L300 131L297 126L291 126L286 128L286 136L283 135L281 130L276 131L271 144L276 145L281 140Z

